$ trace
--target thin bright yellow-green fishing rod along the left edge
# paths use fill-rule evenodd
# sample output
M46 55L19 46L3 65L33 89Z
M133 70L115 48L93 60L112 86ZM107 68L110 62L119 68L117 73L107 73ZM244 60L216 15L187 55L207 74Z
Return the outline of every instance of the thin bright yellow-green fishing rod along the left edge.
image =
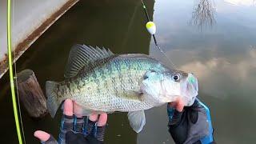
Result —
M22 144L22 133L19 126L19 118L18 118L18 109L15 95L15 87L14 87L14 74L13 74L13 66L12 66L12 50L11 50L11 0L7 0L7 50L8 50L8 63L9 63L9 73L10 73L10 90L11 90L11 98L13 101L14 108L14 119L15 125L18 135L18 143Z

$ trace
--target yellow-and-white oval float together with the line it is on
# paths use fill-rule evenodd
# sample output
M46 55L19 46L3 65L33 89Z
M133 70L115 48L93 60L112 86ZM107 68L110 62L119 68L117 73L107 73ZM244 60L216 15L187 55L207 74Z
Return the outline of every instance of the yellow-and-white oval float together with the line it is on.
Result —
M170 58L167 57L166 53L164 53L164 51L161 49L161 47L158 45L158 42L157 42L157 38L155 37L155 33L156 33L156 26L154 24L154 22L150 21L150 16L146 10L146 5L145 3L143 2L142 0L142 7L145 11L145 14L146 14L146 19L147 19L147 22L146 22L146 30L148 30L148 32L153 36L154 38L154 45L158 47L158 50L160 50L160 52L167 58L167 60L171 63L172 66L174 66L174 69L176 70L177 69L177 66L174 65L174 62L172 62L170 60Z

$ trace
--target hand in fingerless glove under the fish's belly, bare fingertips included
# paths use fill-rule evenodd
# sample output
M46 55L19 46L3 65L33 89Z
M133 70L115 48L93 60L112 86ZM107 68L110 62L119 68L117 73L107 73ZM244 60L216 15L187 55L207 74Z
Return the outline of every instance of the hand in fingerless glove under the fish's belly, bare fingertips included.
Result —
M34 136L44 144L102 144L106 127L107 114L92 114L87 117L76 117L73 113L73 102L64 102L61 133L58 142L44 131L37 130Z

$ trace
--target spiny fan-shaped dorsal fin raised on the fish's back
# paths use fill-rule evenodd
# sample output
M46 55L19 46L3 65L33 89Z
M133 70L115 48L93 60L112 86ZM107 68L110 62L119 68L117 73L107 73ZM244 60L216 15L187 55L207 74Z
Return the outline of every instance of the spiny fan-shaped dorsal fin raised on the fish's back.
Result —
M74 45L70 50L69 59L66 65L65 78L72 78L78 74L83 67L96 60L108 58L114 55L109 49L102 49L96 46L96 49L92 46L86 45Z

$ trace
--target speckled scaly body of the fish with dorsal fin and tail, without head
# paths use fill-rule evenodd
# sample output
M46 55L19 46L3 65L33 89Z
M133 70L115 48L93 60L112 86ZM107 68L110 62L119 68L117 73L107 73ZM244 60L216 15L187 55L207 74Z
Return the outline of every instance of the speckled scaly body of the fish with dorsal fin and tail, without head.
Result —
M146 54L117 55L104 48L76 45L70 51L66 80L46 82L48 109L55 114L58 103L66 98L91 111L149 109L152 104L139 97L139 82L148 70L164 71L166 67Z

